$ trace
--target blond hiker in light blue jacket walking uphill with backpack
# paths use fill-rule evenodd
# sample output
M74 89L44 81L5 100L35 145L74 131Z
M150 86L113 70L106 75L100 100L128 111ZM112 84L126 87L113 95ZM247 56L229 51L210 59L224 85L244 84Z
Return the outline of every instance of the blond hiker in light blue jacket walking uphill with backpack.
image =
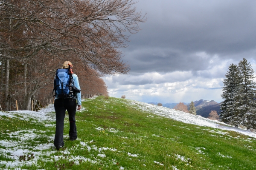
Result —
M64 147L63 129L66 109L70 121L69 137L76 140L76 102L77 110L81 109L81 93L78 77L73 74L73 65L70 61L65 61L63 69L58 69L54 78L54 108L56 113L56 131L54 145L57 150Z

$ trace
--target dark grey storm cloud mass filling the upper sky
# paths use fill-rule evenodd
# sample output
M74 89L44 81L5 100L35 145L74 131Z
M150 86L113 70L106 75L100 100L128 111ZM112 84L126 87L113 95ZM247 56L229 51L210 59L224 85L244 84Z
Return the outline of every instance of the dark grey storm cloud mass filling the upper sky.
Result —
M137 9L148 20L122 49L131 74L205 70L218 64L210 62L215 54L234 60L244 53L255 56L254 0L140 0Z

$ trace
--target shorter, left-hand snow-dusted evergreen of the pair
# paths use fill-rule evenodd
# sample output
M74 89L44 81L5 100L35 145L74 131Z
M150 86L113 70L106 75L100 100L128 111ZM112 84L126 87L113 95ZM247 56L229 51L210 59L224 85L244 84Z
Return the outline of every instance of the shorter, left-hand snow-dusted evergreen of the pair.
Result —
M227 74L225 75L222 89L223 93L221 94L223 102L221 102L221 112L220 118L223 122L230 123L233 119L233 110L227 109L228 106L234 105L234 96L238 91L239 85L241 83L241 78L239 75L239 68L235 64L231 64L228 68Z

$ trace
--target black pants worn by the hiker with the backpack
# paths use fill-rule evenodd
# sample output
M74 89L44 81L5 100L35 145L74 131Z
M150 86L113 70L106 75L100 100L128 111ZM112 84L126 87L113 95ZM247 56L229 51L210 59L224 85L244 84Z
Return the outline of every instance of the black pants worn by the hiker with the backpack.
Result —
M64 118L66 109L70 121L70 140L75 140L77 138L76 132L76 99L55 99L54 108L56 113L56 131L54 145L56 148L64 146L63 141L63 129L64 129Z

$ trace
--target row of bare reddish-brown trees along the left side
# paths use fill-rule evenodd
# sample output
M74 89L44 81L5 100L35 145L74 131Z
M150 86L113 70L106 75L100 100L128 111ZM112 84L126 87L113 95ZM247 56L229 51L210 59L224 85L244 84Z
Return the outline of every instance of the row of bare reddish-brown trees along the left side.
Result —
M107 94L104 74L126 74L119 48L144 16L133 0L0 0L0 104L29 110L52 101L53 77L69 60L82 96ZM40 103L41 102L41 103Z

